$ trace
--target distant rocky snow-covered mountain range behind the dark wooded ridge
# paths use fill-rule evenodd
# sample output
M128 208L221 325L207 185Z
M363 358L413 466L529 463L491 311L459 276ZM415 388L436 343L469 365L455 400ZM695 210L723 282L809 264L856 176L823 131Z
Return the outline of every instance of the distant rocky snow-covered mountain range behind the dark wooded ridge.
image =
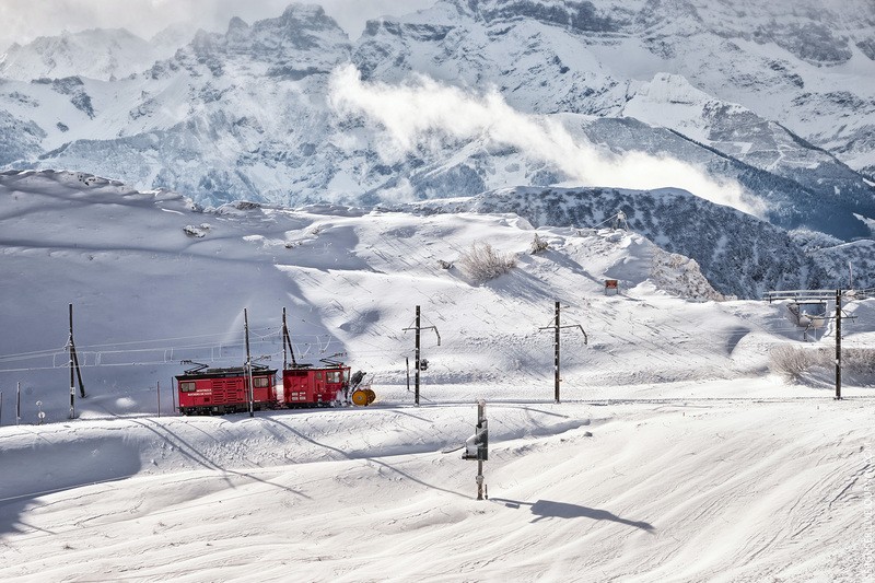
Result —
M42 85L7 82L0 95L3 133L25 139L10 139L0 162L116 176L141 188L175 188L206 203L366 202L581 184L582 176L563 168L557 155L533 151L526 137L509 140L488 128L454 133L445 118L432 120L424 133L401 137L402 149L387 143L385 112L365 107L361 94L409 91L411 83L423 89L416 75L424 74L440 88L460 88L463 117L490 98L482 88L492 86L510 106L505 119L518 114L558 121L572 140L586 140L585 129L602 120L631 121L622 143L602 136L597 151L607 145L616 154L686 160L689 144L649 141L653 126L666 128L722 159L705 164L718 180L738 179L737 166L725 168L736 161L766 173L743 186L767 201L770 217L803 214L805 226L842 238L865 236L868 230L848 212L875 214L873 187L835 158L865 171L848 152L865 158L866 128L875 115L866 93L875 71L866 53L868 8L853 5L863 16L853 43L833 32L847 27L830 11L796 10L777 19L780 7L738 2L730 18L710 3L608 1L441 1L415 15L373 21L350 43L320 9L293 5L253 25L236 19L225 34L199 33L171 59L130 79L106 83L83 74ZM760 32L750 36L750 30ZM791 30L819 38L820 48L791 43ZM733 43L736 49L728 50ZM353 88L358 95L350 93L355 83L349 75L337 75L349 65L363 78ZM788 75L797 75L803 89L788 85ZM831 100L827 90L835 86L852 93L809 115L806 104ZM825 138L826 125L841 130ZM639 167L612 179L628 179L622 174L650 172ZM599 178L591 176L588 184L695 191L684 184ZM769 180L774 184L762 184ZM822 224L832 213L812 211L813 203L838 206L844 226Z

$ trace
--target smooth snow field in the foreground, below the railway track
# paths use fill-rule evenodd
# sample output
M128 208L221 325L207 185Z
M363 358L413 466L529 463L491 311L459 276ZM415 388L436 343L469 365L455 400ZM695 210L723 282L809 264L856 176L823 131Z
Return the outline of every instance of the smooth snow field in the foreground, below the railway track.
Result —
M0 574L864 581L867 407L488 401L481 502L476 465L442 452L472 431L472 404L49 425L39 438L81 450L61 469L120 460L113 440L142 468L5 500ZM39 438L10 429L33 475Z

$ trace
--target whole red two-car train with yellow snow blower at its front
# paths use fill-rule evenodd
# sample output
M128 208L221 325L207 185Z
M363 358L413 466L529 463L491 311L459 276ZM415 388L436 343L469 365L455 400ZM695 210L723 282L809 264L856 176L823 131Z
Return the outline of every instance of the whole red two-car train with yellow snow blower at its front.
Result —
M342 362L323 359L323 366L299 364L294 358L285 311L282 313L283 358L291 352L291 364L283 363L282 384L275 383L277 370L260 364L252 365L253 410L328 407L342 405L368 406L375 395L370 387L360 387L365 373L350 374ZM179 412L183 415L224 415L249 410L248 384L245 366L209 369L197 364L176 377L179 394Z

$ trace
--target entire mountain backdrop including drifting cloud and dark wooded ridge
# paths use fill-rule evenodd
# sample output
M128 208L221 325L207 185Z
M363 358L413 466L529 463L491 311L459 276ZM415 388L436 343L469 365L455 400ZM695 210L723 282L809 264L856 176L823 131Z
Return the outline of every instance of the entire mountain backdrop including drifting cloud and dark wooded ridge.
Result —
M86 171L206 206L368 207L492 193L476 203L578 228L620 207L631 217L648 209L677 219L641 217L635 228L693 257L724 294L832 287L842 270L815 261L801 235L646 194L679 187L784 230L872 237L872 182L837 158L841 148L829 145L817 124L791 123L807 110L802 102L785 103L791 86L822 96L844 75L859 95L819 109L817 121L852 118L841 131L858 143L872 117L871 27L840 37L833 31L847 30L830 11L772 19L772 9L737 8L747 16L689 2L441 1L373 21L351 43L320 8L291 5L254 24L235 19L224 34L200 32L124 79L2 81L0 162ZM743 22L760 32L750 36ZM793 45L788 31L820 45ZM775 81L779 61L802 81ZM581 185L611 194L585 201L573 194ZM539 222L530 203L494 194L517 186L536 187L533 200L542 187L572 187L563 196L580 208ZM865 245L830 247L819 257L865 259Z

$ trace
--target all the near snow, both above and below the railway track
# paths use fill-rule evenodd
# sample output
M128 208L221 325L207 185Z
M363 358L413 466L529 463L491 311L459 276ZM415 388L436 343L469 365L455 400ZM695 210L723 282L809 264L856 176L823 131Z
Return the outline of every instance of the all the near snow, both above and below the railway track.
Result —
M536 233L549 248L532 255ZM458 259L477 241L517 266L474 284ZM0 176L0 263L4 580L875 572L873 380L848 375L842 401L785 384L769 350L828 348L829 329L806 345L785 305L720 301L695 263L634 233L509 213L205 210L83 173L14 173ZM605 278L621 295L604 295ZM559 405L540 329L557 300L588 337L562 333ZM68 302L89 393L75 420ZM871 346L872 302L849 304L845 347ZM405 382L417 304L442 340L423 336L420 407ZM369 372L372 407L171 412L179 360L241 362L244 307L253 352L277 363L283 306L303 359L342 351ZM481 502L458 452L477 398Z

